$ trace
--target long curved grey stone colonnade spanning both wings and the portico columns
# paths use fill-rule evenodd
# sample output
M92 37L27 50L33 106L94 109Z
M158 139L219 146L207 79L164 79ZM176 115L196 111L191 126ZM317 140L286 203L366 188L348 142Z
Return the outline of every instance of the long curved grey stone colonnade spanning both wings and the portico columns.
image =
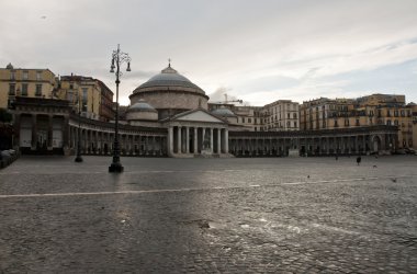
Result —
M78 136L83 155L111 155L113 124L57 114L19 114L16 141L25 152L75 152ZM229 132L216 123L174 122L166 127L120 126L122 156L279 157L394 152L398 133L392 126L308 132Z

